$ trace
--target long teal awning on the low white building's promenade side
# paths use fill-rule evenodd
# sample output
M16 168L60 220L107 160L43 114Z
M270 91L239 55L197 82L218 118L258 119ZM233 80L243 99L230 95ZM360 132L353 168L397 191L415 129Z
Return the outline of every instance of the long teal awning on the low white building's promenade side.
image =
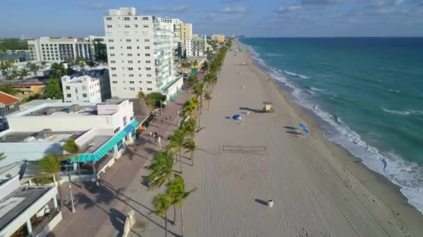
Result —
M102 146L100 146L95 152L88 153L88 154L79 154L79 161L80 162L92 162L92 161L98 161L99 159L102 159L104 155L106 155L109 150L113 149L113 147L122 140L127 134L132 132L136 126L138 125L138 122L136 120L129 123L122 131L120 131L118 134L115 134L111 139L106 141ZM70 158L72 162L76 162L76 157Z

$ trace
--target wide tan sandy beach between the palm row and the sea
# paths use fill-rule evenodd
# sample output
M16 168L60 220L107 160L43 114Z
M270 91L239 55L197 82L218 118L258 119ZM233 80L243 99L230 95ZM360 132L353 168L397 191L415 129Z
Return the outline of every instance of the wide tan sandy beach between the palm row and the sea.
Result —
M330 143L269 79L248 52L228 51L184 168L198 187L184 204L186 236L420 236L423 218L398 189ZM260 112L263 101L275 112Z

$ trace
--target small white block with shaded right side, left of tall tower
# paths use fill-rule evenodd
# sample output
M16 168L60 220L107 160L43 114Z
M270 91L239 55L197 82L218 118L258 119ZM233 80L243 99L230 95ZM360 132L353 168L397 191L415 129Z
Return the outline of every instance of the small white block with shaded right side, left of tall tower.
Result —
M107 69L81 70L61 79L63 100L67 103L99 103L111 98Z

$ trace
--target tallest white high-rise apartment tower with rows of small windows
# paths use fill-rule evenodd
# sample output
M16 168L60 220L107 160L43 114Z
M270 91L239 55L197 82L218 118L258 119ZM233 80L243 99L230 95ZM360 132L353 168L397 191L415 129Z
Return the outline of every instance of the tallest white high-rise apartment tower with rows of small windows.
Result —
M104 31L113 98L157 91L170 100L182 89L175 55L179 39L168 19L136 15L136 8L112 9Z

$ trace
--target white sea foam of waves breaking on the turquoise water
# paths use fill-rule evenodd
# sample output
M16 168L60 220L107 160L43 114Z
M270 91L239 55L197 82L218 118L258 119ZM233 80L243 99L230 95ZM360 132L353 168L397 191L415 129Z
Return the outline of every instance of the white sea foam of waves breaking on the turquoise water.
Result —
M328 123L329 126L322 124L325 137L333 143L337 143L346 148L346 150L349 150L352 155L360 158L362 160L362 164L365 164L365 166L369 169L388 177L392 183L400 186L401 193L406 196L408 202L423 213L422 166L405 161L399 157L399 155L394 154L394 152L384 154L377 148L367 145L365 141L362 141L359 134L343 123L339 116L325 112L321 109L321 107L319 107L319 105L314 103L312 95L306 93L303 89L296 87L292 82L289 82L289 80L287 80L287 78L285 78L285 76L281 73L286 73L286 71L268 67L264 60L260 58L259 53L255 52L251 47L248 47L248 49L250 49L253 59L256 60L256 62L262 67L266 68L273 78L292 89L292 95L298 104L310 109L314 112L314 114ZM401 115L423 114L423 111L411 109L405 111L383 109L383 111Z

